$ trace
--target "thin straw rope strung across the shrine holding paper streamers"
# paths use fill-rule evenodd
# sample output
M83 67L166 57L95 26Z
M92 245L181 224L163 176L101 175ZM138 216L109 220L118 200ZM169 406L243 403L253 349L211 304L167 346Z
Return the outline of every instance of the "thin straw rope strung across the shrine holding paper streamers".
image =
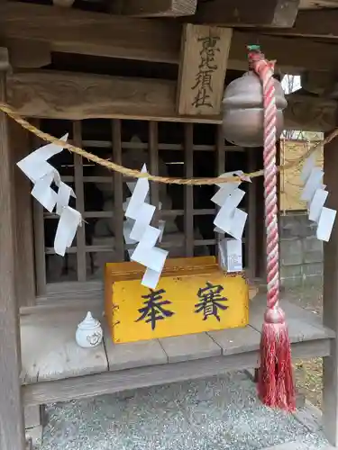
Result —
M59 140L55 138L54 136L51 136L49 133L45 133L44 131L39 130L38 128L34 127L32 123L29 121L26 121L21 117L21 115L12 108L9 104L0 103L0 111L5 112L9 117L14 119L17 123L19 123L25 130L31 131L35 136L37 136L40 139L46 140L47 142L50 142L52 144L59 145L60 147L67 148L69 151L72 151L73 153L77 153L81 157L87 158L89 161L92 161L100 166L104 166L107 169L114 170L115 172L118 172L124 176L131 176L132 178L148 178L151 181L157 182L157 183L164 183L164 184L187 184L187 185L206 185L206 184L218 184L218 183L230 183L234 181L241 181L241 178L239 176L228 176L226 178L221 177L214 177L214 178L170 178L170 177L164 177L164 176L158 176L158 175L151 175L149 173L143 173L139 170L134 170L128 167L119 166L118 164L115 164L112 161L108 161L107 159L103 159L102 157L96 157L96 155L93 155L93 153L90 153L83 148L76 147L74 145L71 145L69 143L65 143L63 140ZM338 136L338 128L333 130L324 140L321 140L317 142L314 146L311 148L308 148L308 150L297 159L293 160L292 162L285 164L283 166L279 166L278 170L288 170L291 167L299 166L306 157L309 157L312 155L312 153L315 152L321 145L328 144L331 142L334 138ZM258 170L256 172L251 172L250 174L245 174L251 178L255 178L256 176L262 176L264 175L263 170Z

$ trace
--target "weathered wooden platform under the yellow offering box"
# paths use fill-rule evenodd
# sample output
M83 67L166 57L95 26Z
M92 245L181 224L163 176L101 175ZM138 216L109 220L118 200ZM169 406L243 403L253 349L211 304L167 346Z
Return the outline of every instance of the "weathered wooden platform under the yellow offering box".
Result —
M312 313L283 302L293 356L328 356L334 333ZM109 334L95 349L75 342L77 308L21 318L24 403L66 401L155 384L196 379L257 366L264 296L251 302L250 325L184 337L113 345ZM98 319L102 310L92 311ZM105 320L102 320L103 323Z

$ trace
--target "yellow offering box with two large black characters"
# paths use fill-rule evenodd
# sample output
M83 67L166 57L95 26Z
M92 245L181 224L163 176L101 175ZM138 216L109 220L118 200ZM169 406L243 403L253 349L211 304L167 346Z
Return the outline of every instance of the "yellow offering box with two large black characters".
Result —
M249 286L215 257L168 259L159 284L141 284L137 263L105 265L105 317L115 344L245 327Z

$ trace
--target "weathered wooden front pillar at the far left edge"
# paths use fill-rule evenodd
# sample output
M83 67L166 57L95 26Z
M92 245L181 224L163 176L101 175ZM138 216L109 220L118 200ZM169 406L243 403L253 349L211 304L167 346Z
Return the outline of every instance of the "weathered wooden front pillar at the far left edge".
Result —
M5 102L7 49L0 48L0 102ZM7 119L0 112L0 448L24 450L20 340L14 284L14 166Z

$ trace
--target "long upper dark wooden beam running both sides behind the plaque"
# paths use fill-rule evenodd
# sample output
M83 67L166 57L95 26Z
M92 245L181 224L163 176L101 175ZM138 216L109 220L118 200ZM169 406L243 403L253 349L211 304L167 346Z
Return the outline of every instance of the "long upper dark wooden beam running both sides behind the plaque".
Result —
M178 64L182 24L175 21L21 2L7 2L0 7L0 17L4 18L2 30L7 39L44 40L51 51ZM285 73L318 67L331 70L338 65L338 48L331 44L233 31L228 68L246 70L246 46L258 41L267 58L277 59Z

